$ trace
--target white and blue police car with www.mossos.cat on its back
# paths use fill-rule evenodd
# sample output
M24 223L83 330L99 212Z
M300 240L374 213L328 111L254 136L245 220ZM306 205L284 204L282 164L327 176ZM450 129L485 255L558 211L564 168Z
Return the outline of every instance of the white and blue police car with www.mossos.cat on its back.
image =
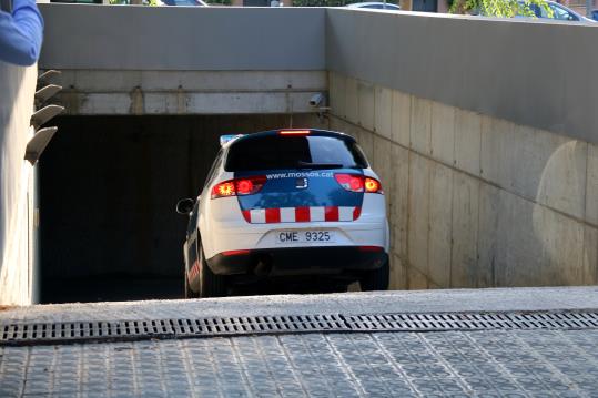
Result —
M318 276L388 287L384 192L355 140L323 130L221 137L190 222L185 296L223 296L234 283Z

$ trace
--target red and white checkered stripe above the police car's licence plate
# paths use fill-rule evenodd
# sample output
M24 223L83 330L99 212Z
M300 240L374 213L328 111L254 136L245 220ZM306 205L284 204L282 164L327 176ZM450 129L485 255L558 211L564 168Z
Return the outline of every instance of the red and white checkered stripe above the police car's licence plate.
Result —
M362 207L353 206L305 206L244 210L243 217L252 224L305 223L312 221L355 221L361 213Z

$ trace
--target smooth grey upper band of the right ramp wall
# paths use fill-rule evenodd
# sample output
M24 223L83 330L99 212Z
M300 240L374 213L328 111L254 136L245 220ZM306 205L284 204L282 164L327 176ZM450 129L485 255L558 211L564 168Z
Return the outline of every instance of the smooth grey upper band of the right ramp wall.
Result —
M330 71L598 144L598 28L328 9Z

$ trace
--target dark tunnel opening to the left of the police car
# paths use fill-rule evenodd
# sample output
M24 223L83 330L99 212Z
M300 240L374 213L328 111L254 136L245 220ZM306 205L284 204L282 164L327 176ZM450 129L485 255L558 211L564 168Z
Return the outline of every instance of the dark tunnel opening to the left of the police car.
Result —
M63 116L40 162L41 302L180 298L186 217L222 134L290 116ZM295 126L317 118L294 116Z

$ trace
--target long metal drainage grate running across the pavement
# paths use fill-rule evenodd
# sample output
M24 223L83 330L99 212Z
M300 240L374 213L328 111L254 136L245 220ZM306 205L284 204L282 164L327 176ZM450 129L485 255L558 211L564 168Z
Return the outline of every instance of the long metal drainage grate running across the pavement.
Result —
M297 333L598 328L598 312L293 315L0 324L0 345Z

